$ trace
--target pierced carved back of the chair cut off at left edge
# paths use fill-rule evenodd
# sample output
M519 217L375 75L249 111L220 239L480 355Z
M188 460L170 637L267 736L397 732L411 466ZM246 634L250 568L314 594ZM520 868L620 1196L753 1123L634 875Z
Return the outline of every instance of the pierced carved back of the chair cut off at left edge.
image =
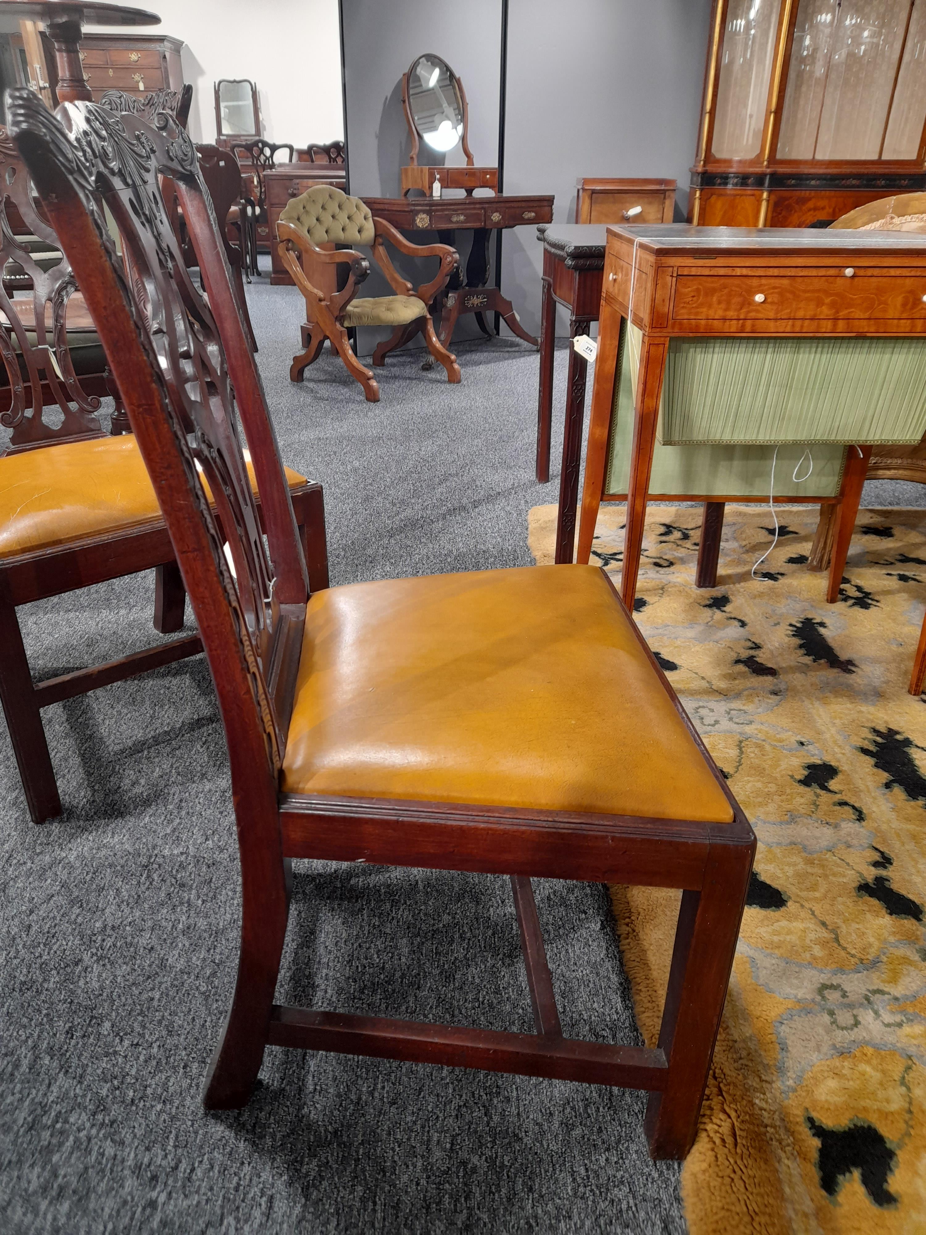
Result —
M104 433L95 415L100 399L81 385L68 346L65 314L77 290L74 275L65 257L51 266L40 261L30 236L44 245L46 254L59 248L48 219L37 209L16 146L0 130L0 267L16 262L32 291L11 298L0 285L5 319L0 324L0 425L11 430L0 454ZM94 340L84 342L93 347ZM99 368L101 377L101 354Z

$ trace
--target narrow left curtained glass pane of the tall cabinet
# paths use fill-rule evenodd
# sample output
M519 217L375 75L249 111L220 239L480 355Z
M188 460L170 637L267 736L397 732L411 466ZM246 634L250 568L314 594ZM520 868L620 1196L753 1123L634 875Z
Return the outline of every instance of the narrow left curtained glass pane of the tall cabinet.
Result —
M730 0L714 121L716 158L754 158L762 146L780 0Z

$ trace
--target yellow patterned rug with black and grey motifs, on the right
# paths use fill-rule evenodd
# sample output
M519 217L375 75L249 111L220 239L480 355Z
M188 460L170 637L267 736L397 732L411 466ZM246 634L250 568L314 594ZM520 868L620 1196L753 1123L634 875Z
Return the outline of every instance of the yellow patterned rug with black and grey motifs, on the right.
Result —
M530 514L552 561L553 506ZM926 700L906 693L926 511L862 510L840 601L806 569L816 508L727 506L696 590L700 509L649 508L636 616L759 846L701 1129L693 1235L926 1231ZM624 509L595 552L620 573ZM593 557L593 561L595 558ZM614 888L654 1045L675 893Z

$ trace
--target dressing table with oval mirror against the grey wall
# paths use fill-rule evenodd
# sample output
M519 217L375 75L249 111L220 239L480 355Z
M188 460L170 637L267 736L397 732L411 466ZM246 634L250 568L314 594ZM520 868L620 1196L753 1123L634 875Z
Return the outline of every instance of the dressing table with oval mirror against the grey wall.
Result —
M506 227L552 222L553 198L538 195L506 196L498 193L498 168L477 167L469 149L469 111L465 91L456 73L431 53L419 56L403 78L403 104L411 135L409 164L401 169L401 198L367 198L364 203L377 219L406 232L436 231L441 242L454 248L457 231L472 232L473 241L467 261L465 277L454 273L441 305L437 335L449 346L453 327L462 314L475 314L477 325L489 335L485 314L501 317L519 338L537 346L533 335L521 325L511 304L498 284L489 287L491 261L489 243L493 233ZM457 146L465 156L465 167L419 164L423 142L428 152L446 156ZM441 196L433 196L440 178ZM444 196L443 190L463 191L462 196ZM484 195L475 196L479 189ZM419 194L419 196L411 196ZM425 196L427 194L427 196Z

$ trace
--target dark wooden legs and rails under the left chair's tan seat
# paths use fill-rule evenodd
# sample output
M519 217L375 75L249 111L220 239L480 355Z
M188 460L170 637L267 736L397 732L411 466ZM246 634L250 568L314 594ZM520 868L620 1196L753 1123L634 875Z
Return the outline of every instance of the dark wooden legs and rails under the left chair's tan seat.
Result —
M326 588L328 572L321 485L304 484L291 489L290 495L310 585L312 590ZM186 592L163 522L0 561L0 703L26 803L36 824L62 813L42 725L42 708L195 656L202 646L198 635L190 635L106 664L33 682L16 606L148 569L156 572L154 629L162 635L174 634L183 629Z

